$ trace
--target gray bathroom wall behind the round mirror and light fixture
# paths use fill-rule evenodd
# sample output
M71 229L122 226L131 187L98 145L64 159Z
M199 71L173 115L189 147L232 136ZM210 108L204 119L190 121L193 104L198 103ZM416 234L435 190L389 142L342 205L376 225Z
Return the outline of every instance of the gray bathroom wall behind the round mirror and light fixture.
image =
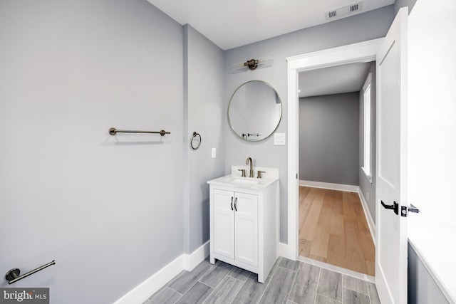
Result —
M369 11L348 19L325 23L321 26L306 28L276 38L252 43L247 46L225 51L225 111L234 90L249 80L264 80L276 88L281 97L283 107L282 120L276 132L285 132L288 124L286 57L321 51L346 44L357 43L385 36L393 21L393 6ZM229 73L234 63L242 63L251 58L272 56L273 65L243 73ZM254 164L261 167L277 167L280 169L280 241L287 243L287 148L274 146L273 137L264 142L244 142L233 134L225 123L225 173L229 173L232 164L244 164L249 156Z

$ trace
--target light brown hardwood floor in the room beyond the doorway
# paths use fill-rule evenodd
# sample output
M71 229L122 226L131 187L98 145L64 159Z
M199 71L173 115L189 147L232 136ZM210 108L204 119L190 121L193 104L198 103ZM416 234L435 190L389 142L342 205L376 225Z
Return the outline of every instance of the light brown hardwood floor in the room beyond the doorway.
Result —
M299 187L299 256L375 276L375 246L358 194Z

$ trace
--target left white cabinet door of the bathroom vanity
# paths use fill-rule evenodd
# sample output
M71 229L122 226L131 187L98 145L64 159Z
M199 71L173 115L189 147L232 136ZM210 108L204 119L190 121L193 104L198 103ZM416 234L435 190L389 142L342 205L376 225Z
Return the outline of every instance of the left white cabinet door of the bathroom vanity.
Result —
M234 258L234 192L214 189L214 253ZM234 204L234 202L233 202Z

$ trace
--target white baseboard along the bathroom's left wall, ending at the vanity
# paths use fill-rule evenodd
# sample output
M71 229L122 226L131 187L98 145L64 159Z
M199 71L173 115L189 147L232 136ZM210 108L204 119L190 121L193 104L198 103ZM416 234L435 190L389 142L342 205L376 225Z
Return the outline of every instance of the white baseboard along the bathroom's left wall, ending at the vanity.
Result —
M142 304L181 271L192 271L207 256L209 256L209 241L190 254L184 253L178 256L174 261L115 301L114 304Z

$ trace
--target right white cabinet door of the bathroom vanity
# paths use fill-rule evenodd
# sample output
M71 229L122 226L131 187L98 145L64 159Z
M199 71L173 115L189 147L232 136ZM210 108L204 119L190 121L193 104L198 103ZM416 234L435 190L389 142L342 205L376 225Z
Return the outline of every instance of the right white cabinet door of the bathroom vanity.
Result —
M258 196L235 193L236 260L258 267Z

